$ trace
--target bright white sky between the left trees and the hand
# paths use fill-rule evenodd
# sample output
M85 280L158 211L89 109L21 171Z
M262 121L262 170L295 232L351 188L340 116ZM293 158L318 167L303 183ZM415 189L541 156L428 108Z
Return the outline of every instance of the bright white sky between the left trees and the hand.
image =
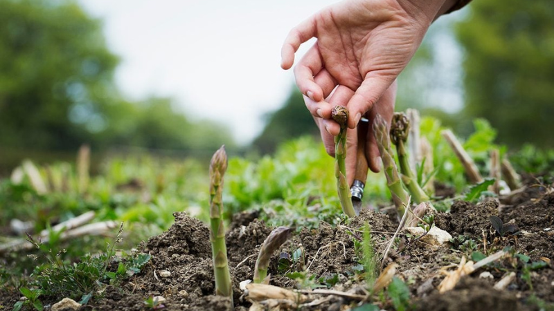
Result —
M122 60L116 82L127 97L173 97L247 143L294 84L292 71L279 66L287 32L335 1L80 2L104 21L109 48Z

